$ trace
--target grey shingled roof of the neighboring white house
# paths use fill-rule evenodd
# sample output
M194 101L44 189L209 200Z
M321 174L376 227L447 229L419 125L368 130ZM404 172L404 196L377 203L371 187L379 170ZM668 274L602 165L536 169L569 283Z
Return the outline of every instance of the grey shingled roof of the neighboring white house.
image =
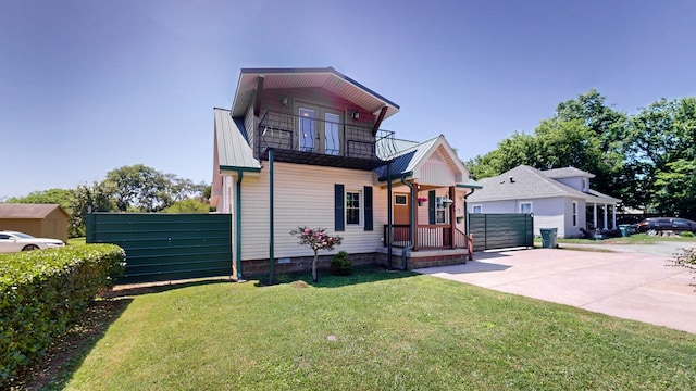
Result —
M570 173L570 171L568 172ZM580 169L576 169L575 173L583 173L584 175L575 174L573 176L586 176L589 174ZM551 171L552 176L558 174L559 171ZM564 178L566 174L562 175L561 177ZM527 165L520 165L498 176L480 179L478 182L481 182L483 189L471 194L468 200L470 202L486 202L573 197L582 198L591 202L616 203L620 201L619 199L595 190L583 192L573 189L556 180L556 178L558 177L549 177L545 171L539 171Z

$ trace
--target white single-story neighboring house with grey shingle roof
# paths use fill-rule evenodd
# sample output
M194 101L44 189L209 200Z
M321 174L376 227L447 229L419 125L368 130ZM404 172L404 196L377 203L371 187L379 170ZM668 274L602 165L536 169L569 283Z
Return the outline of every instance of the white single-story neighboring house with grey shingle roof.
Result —
M616 228L621 200L592 190L595 175L574 167L539 171L517 166L480 179L483 189L467 198L470 213L532 213L534 232L557 228L559 237L580 237L581 228Z

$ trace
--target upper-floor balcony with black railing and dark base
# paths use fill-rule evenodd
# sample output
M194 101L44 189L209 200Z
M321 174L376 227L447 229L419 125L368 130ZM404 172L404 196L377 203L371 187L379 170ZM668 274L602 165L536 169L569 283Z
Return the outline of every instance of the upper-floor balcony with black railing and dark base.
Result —
M333 123L319 118L266 112L257 130L257 155L274 160L330 167L371 171L394 155L394 131ZM254 135L254 136L256 136Z

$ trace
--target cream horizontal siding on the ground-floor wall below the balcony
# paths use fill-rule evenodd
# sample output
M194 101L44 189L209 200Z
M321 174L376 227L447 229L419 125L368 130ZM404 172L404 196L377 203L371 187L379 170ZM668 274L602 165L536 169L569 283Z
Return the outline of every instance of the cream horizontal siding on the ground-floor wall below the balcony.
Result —
M382 229L386 223L386 190L373 186L373 226L346 225L344 231L334 231L334 185L343 184L347 191L362 191L372 186L372 172L343 169L301 164L275 163L275 257L310 256L313 252L297 243L290 230L308 226L325 228L330 235L344 238L334 254L340 250L348 253L374 252L382 247ZM266 163L259 178L246 178L241 182L241 260L269 257L269 173ZM364 194L363 194L364 197ZM363 205L364 206L364 201ZM364 218L361 219L364 223Z

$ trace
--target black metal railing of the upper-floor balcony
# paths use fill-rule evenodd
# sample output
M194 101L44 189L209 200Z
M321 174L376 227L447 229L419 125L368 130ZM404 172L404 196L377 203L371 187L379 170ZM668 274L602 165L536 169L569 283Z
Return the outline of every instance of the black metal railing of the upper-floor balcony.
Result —
M308 134L300 134L300 124L309 129ZM316 126L318 124L322 126ZM318 131L322 131L319 137L321 143ZM259 156L269 148L368 160L384 159L398 152L394 131L390 130L373 131L370 127L272 111L263 114L258 134Z

